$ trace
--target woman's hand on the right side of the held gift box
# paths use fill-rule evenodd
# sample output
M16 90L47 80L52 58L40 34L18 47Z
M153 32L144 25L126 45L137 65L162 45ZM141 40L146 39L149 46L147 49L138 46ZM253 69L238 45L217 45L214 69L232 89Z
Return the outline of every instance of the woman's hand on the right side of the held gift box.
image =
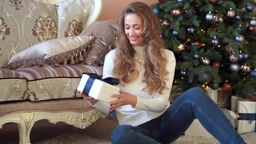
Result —
M109 108L110 111L113 111L122 105L133 105L135 106L137 103L137 97L134 95L129 94L128 92L125 92L123 90L120 90L120 94L113 94L111 97L118 98L118 100L110 101L108 104L110 104Z

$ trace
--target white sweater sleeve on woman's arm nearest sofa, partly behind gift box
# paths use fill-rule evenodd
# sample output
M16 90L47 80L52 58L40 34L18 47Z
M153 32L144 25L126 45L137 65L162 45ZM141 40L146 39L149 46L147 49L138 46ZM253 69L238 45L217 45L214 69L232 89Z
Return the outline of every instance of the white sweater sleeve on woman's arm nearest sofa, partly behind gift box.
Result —
M112 77L112 69L113 69L113 59L112 55L115 54L115 51L112 50L108 52L108 54L105 57L104 61L104 67L103 67L103 79L107 77ZM91 102L89 102L91 106L98 109L99 111L104 112L105 114L108 114L109 112L109 104L103 101L98 101L95 105L92 105Z

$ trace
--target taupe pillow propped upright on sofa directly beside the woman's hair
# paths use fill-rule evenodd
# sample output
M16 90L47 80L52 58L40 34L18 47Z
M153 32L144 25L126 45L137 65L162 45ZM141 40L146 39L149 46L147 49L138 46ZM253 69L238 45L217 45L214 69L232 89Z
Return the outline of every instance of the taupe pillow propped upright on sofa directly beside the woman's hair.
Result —
M115 49L118 33L118 20L96 21L85 28L80 35L95 36L90 51L87 52L85 64L103 65L105 55Z

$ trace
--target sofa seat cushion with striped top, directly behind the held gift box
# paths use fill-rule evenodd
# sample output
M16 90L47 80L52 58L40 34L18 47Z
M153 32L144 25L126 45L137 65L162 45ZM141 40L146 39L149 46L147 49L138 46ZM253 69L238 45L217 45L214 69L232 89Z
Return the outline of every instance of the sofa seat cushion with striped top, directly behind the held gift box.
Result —
M91 65L61 65L59 67L31 67L16 69L27 79L27 91L23 99L41 101L55 98L79 97L77 87L82 72L102 75L103 68Z

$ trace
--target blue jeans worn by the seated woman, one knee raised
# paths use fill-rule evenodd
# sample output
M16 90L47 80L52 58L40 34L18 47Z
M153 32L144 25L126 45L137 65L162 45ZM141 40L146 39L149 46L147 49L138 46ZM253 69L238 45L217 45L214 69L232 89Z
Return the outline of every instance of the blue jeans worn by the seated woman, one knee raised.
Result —
M111 133L112 144L170 144L197 118L221 144L246 144L215 102L201 88L180 95L158 118L133 127L119 125Z

